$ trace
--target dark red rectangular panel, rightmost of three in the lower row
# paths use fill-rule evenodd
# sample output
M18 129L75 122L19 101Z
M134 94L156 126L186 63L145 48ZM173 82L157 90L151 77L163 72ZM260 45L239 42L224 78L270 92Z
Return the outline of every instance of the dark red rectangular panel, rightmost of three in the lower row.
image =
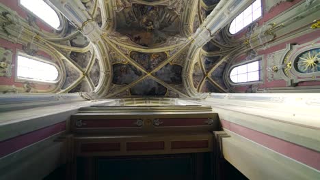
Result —
M208 140L178 140L171 142L171 149L207 148Z

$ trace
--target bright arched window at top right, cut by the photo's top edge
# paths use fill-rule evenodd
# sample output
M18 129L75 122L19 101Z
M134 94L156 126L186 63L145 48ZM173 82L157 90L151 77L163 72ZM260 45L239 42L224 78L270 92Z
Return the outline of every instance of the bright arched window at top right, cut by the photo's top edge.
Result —
M230 33L235 34L241 31L241 29L254 22L254 20L260 18L261 15L261 0L256 0L254 3L249 5L247 9L241 12L234 20L232 20L229 29Z

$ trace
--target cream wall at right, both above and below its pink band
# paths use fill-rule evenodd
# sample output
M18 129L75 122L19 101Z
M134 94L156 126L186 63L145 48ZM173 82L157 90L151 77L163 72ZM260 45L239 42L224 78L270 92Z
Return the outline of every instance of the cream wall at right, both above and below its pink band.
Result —
M319 93L212 93L198 103L211 105L220 120L276 138L278 141L273 143L289 142L304 152L311 150L319 158L319 97ZM224 128L230 136L222 138L224 157L249 179L320 178L319 170L231 130ZM293 149L286 148L284 151L292 155ZM302 151L295 153L299 157L306 155Z

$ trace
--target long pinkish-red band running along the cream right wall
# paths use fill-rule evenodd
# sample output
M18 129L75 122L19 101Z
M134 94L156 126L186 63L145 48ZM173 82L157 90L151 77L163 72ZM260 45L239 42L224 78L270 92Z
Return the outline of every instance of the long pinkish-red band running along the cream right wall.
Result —
M286 155L298 162L302 162L312 168L320 170L320 153L306 147L302 147L293 142L288 142L256 130L252 130L242 125L237 125L221 119L222 127L248 138L264 147L272 149L282 155Z

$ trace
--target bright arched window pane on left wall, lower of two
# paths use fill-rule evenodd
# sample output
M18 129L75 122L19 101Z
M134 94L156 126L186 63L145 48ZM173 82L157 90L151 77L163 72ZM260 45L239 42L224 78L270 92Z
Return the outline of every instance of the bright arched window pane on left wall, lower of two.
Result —
M57 82L59 72L57 67L44 61L38 61L27 55L18 54L16 76L22 80L35 80L40 82Z

